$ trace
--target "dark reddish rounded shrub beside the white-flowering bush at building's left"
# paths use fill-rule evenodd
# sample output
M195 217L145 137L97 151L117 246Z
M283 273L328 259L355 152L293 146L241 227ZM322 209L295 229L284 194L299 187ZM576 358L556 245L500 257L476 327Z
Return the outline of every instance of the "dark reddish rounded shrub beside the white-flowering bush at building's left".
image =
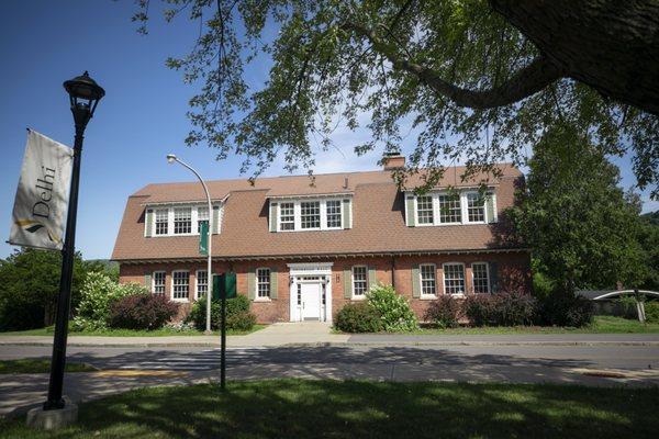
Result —
M158 329L176 315L178 305L164 295L133 294L114 302L108 324L123 329Z

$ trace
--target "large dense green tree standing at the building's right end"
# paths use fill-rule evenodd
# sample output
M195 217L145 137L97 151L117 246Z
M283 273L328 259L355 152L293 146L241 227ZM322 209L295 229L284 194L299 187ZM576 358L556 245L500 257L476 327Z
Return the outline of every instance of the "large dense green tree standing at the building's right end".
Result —
M540 139L526 190L511 216L538 268L562 291L638 286L647 255L638 244L636 204L618 187L619 172L571 128Z

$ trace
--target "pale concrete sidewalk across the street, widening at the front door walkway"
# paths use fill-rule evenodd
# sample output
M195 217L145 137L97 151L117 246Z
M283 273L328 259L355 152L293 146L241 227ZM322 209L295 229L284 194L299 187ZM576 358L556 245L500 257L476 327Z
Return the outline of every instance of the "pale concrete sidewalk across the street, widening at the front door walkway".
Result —
M228 347L277 347L291 345L351 346L659 346L659 334L518 334L518 335L402 335L332 334L325 323L277 323L245 336L228 336ZM51 346L52 336L0 336L0 346ZM77 347L219 347L217 336L87 337L72 336Z

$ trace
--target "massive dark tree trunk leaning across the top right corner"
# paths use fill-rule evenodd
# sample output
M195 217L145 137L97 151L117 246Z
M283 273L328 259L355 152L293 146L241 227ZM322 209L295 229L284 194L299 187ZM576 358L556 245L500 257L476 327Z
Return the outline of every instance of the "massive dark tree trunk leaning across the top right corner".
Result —
M567 77L659 115L659 1L490 3Z

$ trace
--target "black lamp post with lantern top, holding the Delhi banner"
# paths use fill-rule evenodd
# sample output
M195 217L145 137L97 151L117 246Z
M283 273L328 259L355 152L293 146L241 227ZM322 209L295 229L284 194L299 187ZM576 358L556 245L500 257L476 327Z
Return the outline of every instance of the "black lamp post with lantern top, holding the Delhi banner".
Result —
M103 90L86 71L79 77L64 82L69 94L71 113L76 123L76 140L74 144L74 170L69 192L66 235L62 249L62 277L59 278L59 295L55 317L55 340L53 342L53 360L51 362L51 380L48 382L48 399L44 410L64 408L62 387L66 365L66 339L68 336L68 317L71 303L71 283L74 280L74 255L76 247L76 216L78 214L78 187L80 182L80 156L85 127L93 116L93 112L103 95Z

